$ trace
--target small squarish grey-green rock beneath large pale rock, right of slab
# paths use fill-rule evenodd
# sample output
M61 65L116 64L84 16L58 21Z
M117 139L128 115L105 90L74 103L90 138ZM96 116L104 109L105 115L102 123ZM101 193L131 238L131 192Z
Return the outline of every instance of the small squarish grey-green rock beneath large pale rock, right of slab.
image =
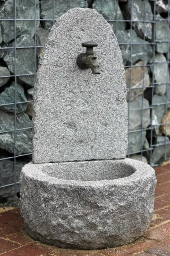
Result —
M146 140L146 131L129 133L129 153L139 153Z

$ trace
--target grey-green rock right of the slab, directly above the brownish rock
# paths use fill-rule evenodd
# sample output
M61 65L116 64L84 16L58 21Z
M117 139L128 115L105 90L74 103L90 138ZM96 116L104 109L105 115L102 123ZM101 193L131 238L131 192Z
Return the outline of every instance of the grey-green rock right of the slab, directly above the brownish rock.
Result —
M139 60L142 60L147 64L153 55L152 47L147 41L138 37L137 33L135 33L133 29L127 30L127 32L129 43L130 41L132 43L132 49L131 45L129 45L128 51L129 64L132 63L132 65L134 65Z

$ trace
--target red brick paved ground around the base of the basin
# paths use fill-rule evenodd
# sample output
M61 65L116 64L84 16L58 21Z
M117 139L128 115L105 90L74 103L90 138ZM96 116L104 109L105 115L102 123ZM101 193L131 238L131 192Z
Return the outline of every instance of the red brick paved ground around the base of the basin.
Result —
M170 256L170 164L155 168L155 212L144 237L113 249L58 249L33 241L23 229L18 208L0 213L0 255L3 256Z

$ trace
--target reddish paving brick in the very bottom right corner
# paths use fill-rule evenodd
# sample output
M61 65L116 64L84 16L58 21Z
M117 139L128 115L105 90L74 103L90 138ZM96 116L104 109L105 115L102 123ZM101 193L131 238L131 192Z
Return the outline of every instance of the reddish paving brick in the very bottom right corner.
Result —
M170 244L164 244L160 243L157 244L149 249L147 249L145 252L150 254L156 254L158 256L169 256L170 255Z

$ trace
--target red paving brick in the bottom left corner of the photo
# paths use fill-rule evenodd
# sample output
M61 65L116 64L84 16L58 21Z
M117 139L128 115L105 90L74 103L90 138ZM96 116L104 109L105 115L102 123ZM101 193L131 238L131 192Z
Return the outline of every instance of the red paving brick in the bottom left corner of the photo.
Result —
M49 247L49 248L48 248ZM19 247L18 249L4 253L3 256L40 256L48 255L52 251L50 246L38 245L37 243L31 243Z

